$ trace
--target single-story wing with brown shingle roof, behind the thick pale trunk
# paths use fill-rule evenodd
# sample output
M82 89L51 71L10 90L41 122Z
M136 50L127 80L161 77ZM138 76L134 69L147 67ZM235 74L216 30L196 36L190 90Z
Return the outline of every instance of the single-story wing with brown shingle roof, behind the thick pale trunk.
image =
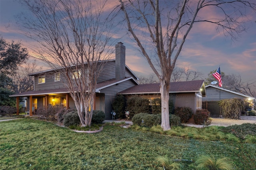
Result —
M137 94L149 100L160 98L160 83L135 85L118 94ZM190 107L196 113L197 109L202 109L202 97L206 96L204 80L171 82L169 94L174 107Z

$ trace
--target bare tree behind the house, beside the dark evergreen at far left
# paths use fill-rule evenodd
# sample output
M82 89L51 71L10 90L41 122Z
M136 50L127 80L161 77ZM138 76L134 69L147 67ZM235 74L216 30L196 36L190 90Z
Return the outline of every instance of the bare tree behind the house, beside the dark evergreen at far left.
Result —
M23 66L20 66L20 68L11 75L15 93L34 90L34 78L32 76L28 76L28 74L39 71L42 71L42 66L38 67L36 60L32 63L27 62Z

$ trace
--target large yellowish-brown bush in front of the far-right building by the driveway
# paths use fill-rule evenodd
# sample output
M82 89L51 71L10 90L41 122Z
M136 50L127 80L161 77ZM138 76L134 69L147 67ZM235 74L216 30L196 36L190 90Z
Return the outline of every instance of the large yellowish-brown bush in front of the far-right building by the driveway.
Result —
M239 98L223 99L218 102L226 119L239 119L244 110L244 101Z

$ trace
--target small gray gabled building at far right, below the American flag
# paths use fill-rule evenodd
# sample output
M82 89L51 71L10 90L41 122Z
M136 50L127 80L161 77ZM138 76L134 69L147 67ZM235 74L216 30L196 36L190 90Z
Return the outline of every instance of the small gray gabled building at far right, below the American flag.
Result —
M207 96L203 97L202 107L211 112L211 117L222 117L221 109L218 106L218 101L223 99L240 98L243 100L255 100L254 97L247 96L238 92L233 92L224 88L220 88L213 85L207 85L206 87Z

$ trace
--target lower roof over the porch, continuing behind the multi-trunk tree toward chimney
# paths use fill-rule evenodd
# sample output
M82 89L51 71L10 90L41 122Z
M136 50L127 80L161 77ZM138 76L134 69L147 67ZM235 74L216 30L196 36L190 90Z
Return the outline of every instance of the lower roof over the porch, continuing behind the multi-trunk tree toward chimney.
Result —
M96 85L96 93L99 93L101 89L107 88L109 86L113 86L115 84L125 82L127 80L134 81L135 84L138 84L138 82L133 77L123 78L121 80L111 79L104 82L100 82ZM18 96L39 96L39 95L46 95L46 94L63 94L63 93L69 93L69 90L67 88L57 88L57 89L49 89L49 90L37 90L37 91L28 91L18 94L12 94L10 97L18 97Z

